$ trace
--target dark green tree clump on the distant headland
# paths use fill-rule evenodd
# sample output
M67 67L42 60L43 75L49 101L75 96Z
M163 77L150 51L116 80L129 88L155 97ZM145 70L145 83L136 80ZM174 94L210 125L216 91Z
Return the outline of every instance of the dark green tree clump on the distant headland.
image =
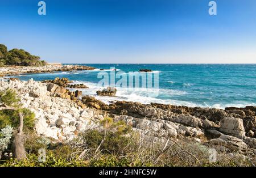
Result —
M5 65L18 66L43 66L45 61L41 61L39 56L34 56L24 49L11 49L0 44L0 67Z

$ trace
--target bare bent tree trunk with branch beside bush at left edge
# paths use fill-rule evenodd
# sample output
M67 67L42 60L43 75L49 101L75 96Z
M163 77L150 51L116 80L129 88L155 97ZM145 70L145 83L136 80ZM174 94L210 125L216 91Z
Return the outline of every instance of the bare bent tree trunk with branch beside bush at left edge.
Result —
M13 110L17 111L17 108L15 107L10 107L6 104L1 103L0 104L0 111L1 110ZM21 159L26 159L26 150L24 147L23 143L23 114L18 113L19 115L19 128L18 131L14 134L14 141L13 141L13 155L16 159L21 160Z

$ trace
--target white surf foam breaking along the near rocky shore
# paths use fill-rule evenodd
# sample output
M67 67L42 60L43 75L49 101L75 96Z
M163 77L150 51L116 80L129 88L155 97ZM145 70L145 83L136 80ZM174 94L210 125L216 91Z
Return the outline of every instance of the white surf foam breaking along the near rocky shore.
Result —
M74 81L73 83L79 84L84 83L88 86L88 89L79 89L82 91L82 95L89 95L94 96L96 99L101 100L105 104L110 104L115 101L133 101L139 102L142 104L150 104L150 103L160 103L160 104L172 104L172 105L186 105L188 107L208 107L208 108L218 108L218 109L225 109L226 107L246 107L246 105L256 105L256 103L247 103L245 101L237 101L237 103L230 103L230 104L196 104L190 101L182 101L182 100L172 100L172 99L158 99L151 96L154 96L155 92L157 92L156 88L150 88L150 90L134 90L129 91L127 88L117 87L117 94L115 97L113 96L98 96L96 91L102 90L104 87L98 86L97 83L91 82L81 82L81 81ZM146 88L144 88L146 89ZM70 90L75 91L76 88L70 88ZM167 90L167 89L159 89L159 95L168 94L171 95L185 95L187 94L184 91L178 90Z

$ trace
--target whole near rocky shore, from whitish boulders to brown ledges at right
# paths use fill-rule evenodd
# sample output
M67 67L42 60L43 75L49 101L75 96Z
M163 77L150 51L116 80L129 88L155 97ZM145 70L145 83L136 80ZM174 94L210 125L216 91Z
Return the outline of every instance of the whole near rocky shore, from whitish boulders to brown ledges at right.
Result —
M53 83L34 80L1 81L0 90L12 88L23 107L36 115L38 135L59 142L94 129L105 117L125 121L143 135L160 139L189 138L200 144L226 147L231 152L256 154L256 107L190 108L185 106L117 101L107 105L79 90L69 92Z

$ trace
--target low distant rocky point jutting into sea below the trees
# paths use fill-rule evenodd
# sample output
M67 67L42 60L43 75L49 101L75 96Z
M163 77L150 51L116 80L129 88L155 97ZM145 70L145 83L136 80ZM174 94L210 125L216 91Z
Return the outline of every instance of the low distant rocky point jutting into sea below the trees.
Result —
M73 70L94 70L96 68L81 65L53 65L45 66L5 66L0 67L0 77L5 75L20 75L26 73L54 73L57 71L73 71Z

